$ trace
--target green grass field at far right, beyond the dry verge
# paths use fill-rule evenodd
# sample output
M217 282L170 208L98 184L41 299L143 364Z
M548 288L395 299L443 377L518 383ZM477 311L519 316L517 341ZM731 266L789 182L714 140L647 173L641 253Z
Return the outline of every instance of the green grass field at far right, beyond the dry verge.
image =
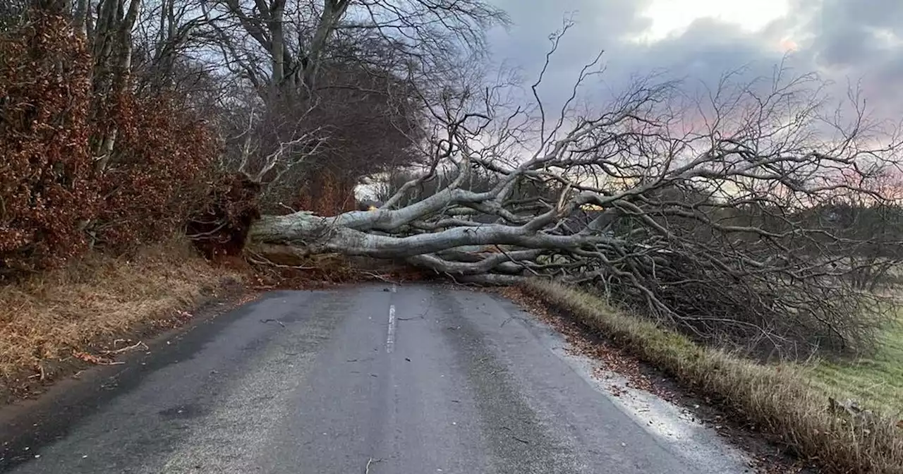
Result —
M818 362L811 375L817 386L862 408L903 416L903 316L888 329L875 355L852 362Z

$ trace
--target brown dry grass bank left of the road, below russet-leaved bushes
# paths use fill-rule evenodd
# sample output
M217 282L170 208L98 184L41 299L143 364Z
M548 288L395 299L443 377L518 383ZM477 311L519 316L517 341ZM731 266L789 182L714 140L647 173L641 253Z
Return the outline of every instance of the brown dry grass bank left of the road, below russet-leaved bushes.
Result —
M175 240L133 256L88 256L0 287L0 395L52 379L73 358L118 349L116 338L172 326L178 311L240 278Z

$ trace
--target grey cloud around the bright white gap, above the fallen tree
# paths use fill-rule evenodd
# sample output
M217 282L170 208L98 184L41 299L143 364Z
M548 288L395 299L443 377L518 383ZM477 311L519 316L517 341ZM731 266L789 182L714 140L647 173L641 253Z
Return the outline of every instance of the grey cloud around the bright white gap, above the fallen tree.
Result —
M777 47L787 33L808 38L798 45L788 64L796 72L819 70L845 87L847 79L862 79L863 88L885 116L903 115L903 47L882 44L876 34L895 34L903 41L901 0L793 0L786 18L761 32L747 33L712 19L691 24L684 33L643 45L624 38L641 33L647 2L628 0L497 0L511 14L511 33L490 38L498 59L509 59L529 74L544 60L547 36L561 26L563 14L578 10L578 24L554 58L548 90L562 99L573 77L595 51L605 49L606 83L624 88L630 74L666 70L674 77L712 83L727 70L749 66L749 75L769 74L783 52ZM838 89L839 93L842 93Z

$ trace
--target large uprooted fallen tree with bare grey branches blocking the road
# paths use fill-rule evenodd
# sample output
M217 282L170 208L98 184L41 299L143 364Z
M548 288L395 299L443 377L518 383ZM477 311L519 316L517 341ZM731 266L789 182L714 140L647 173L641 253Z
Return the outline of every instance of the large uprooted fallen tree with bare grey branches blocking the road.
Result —
M765 355L870 349L882 306L838 263L875 237L845 232L830 209L887 205L871 183L895 169L898 137L856 100L846 123L827 121L823 83L783 69L768 81L725 76L705 100L639 80L592 112L576 98L595 64L554 119L536 93L545 70L527 91L532 107L502 103L503 88L447 91L425 104L430 165L379 209L265 216L249 251L391 259L458 282L594 285ZM469 186L476 174L489 185Z

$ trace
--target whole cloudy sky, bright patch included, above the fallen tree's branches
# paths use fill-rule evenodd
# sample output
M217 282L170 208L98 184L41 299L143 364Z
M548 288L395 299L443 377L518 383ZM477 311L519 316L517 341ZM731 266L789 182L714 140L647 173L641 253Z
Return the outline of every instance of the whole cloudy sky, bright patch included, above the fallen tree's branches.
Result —
M841 93L858 81L874 113L903 118L903 0L493 1L514 23L490 34L494 60L531 79L548 34L565 16L576 21L554 57L550 98L599 50L614 89L651 70L710 83L744 65L770 73L789 54L795 71L818 71Z

